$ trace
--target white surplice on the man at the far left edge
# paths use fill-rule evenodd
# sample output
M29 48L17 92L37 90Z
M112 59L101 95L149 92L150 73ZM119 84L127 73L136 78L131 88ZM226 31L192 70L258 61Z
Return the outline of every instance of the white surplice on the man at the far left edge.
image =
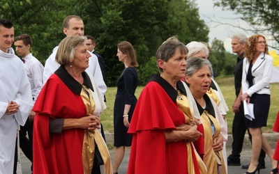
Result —
M0 173L13 173L17 125L24 125L33 106L31 87L20 58L12 48L0 50ZM20 105L15 114L7 115L8 103Z

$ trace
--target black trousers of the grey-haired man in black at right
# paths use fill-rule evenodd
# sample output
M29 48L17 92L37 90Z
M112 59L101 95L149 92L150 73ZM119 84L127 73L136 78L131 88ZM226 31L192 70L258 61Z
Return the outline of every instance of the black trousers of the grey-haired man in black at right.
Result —
M240 154L243 148L244 136L246 134L246 130L248 131L250 142L252 143L252 136L249 132L248 127L246 127L247 119L244 116L243 103L241 102L241 106L239 106L240 111L234 113L234 120L232 122L232 155L229 155L229 159L240 159ZM264 150L261 151L259 155L259 161L264 161L266 157L266 153Z

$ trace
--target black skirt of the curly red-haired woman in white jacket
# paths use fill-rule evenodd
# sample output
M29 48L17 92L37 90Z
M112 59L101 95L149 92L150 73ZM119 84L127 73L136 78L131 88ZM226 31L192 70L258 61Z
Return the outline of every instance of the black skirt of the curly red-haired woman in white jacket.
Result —
M271 104L270 95L255 93L250 97L250 103L254 104L255 119L248 120L246 118L247 127L266 127L267 118L269 116L269 107Z

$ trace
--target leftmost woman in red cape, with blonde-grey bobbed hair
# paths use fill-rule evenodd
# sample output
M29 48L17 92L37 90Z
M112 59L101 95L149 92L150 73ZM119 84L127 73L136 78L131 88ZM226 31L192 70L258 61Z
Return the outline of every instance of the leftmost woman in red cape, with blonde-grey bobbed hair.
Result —
M33 107L35 174L95 174L96 145L105 173L112 173L110 153L96 129L106 106L93 77L84 72L90 57L85 41L83 36L61 41L56 54L61 66L47 80ZM100 173L98 167L96 173Z

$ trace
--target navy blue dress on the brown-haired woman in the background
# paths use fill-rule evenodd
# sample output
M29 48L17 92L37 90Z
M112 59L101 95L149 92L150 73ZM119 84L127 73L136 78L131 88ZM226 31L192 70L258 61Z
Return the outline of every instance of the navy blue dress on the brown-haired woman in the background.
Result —
M121 76L116 82L117 93L114 102L114 146L130 146L132 143L132 135L127 134L128 127L123 123L123 112L125 104L130 104L128 120L132 119L132 115L137 104L135 90L137 88L137 70L135 68L125 68Z

